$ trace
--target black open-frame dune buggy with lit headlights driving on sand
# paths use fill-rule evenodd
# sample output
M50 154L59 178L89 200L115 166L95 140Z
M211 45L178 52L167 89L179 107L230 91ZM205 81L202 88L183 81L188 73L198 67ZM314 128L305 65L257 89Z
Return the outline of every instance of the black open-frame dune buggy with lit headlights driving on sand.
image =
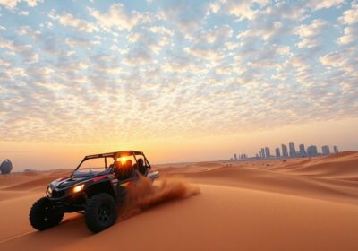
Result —
M47 186L47 196L30 209L30 224L45 230L58 225L64 212L81 212L92 232L115 223L117 206L123 205L126 189L141 175L152 180L149 161L141 151L116 151L86 156L70 177L58 178Z

